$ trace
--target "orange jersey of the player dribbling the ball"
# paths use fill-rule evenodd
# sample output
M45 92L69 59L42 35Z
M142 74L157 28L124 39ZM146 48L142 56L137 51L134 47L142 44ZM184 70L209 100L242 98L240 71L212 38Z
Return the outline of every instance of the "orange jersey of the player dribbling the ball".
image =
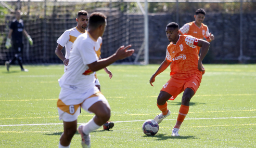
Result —
M197 75L202 78L198 70L198 39L193 36L180 35L176 45L172 42L167 46L165 59L171 62L170 76L174 78L188 78Z

